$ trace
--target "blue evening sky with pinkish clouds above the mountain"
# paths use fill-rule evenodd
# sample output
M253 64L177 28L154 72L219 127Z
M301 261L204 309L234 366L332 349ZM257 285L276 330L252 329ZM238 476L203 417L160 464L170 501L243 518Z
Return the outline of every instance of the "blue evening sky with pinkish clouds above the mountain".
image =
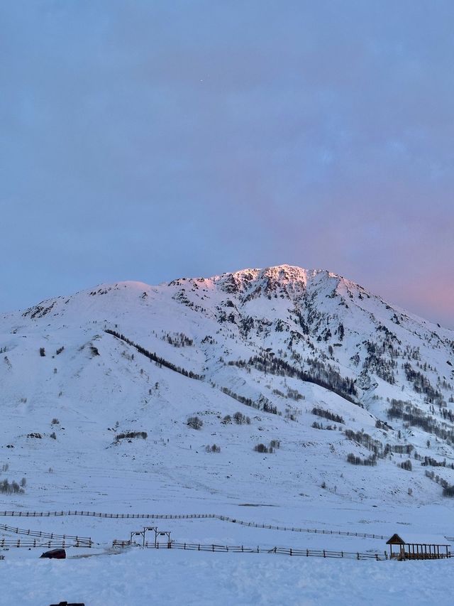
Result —
M328 269L454 328L452 0L3 0L0 310Z

